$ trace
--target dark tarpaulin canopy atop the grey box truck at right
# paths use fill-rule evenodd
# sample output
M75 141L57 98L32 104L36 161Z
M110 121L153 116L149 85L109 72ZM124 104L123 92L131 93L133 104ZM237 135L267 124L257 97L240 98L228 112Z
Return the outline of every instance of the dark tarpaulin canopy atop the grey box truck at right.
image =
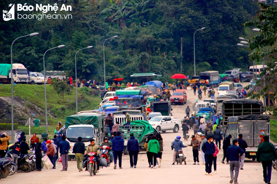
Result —
M249 121L269 121L269 116L266 115L258 115L258 114L249 114L249 115L242 115L242 116L231 116L228 117L227 126L228 129L236 129L238 128L238 121L242 120L249 120Z

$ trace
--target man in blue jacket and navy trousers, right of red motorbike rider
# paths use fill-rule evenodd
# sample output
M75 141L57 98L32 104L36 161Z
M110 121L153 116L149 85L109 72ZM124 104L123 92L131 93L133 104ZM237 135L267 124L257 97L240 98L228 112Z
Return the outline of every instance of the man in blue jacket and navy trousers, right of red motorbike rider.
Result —
M118 157L118 165L119 169L122 169L121 162L122 162L122 153L124 150L124 140L120 136L120 132L116 133L116 137L111 142L111 145L113 146L112 150L114 153L114 169L116 169L116 162Z

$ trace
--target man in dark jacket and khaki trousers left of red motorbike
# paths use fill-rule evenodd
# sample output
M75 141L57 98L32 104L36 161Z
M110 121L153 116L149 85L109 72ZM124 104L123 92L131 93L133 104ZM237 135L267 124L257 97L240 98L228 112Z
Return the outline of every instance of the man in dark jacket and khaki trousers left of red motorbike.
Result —
M72 152L75 153L77 168L79 172L83 171L82 161L84 159L85 146L84 146L84 143L82 142L82 137L78 137L78 142L74 144Z

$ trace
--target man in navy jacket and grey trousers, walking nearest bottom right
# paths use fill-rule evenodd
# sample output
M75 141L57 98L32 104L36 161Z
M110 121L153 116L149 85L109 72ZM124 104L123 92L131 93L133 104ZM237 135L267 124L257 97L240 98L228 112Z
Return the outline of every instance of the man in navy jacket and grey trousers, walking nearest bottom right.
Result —
M230 158L230 183L233 183L233 181L235 181L235 184L238 184L238 174L240 172L240 157L243 153L244 151L239 147L238 140L233 140L233 145L229 146L227 149L227 157Z

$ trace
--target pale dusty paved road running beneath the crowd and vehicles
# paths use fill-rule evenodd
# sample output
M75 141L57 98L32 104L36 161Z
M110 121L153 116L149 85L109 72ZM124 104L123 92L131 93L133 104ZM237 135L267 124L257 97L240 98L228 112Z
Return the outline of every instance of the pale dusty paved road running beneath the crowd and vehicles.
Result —
M188 102L187 104L192 107L192 103L195 102L196 96L194 96L192 90L187 91ZM205 97L204 97L205 99ZM184 110L186 105L174 105L173 116L177 118L183 118L185 113ZM193 135L193 131L189 131L190 135ZM30 172L24 173L19 172L12 176L8 176L6 179L1 179L0 183L190 183L190 184L201 184L201 183L229 183L230 172L229 165L222 164L220 161L223 157L223 150L220 150L217 155L217 174L213 176L206 176L205 165L192 165L193 154L192 147L183 148L184 154L187 157L187 165L171 165L173 151L170 148L171 142L176 138L177 135L182 136L182 132L173 133L168 131L161 134L165 142L163 161L161 168L150 169L148 168L148 161L145 152L139 153L137 168L129 168L129 156L123 156L123 169L114 170L113 167L103 168L100 173L96 176L89 176L89 172L78 172L77 164L75 160L69 162L67 172L61 172L61 163L57 163L56 170L46 170L42 172ZM189 141L183 141L187 144ZM226 162L226 161L225 161ZM200 157L201 163L201 157ZM113 166L113 164L111 165ZM244 163L244 170L240 170L238 183L264 183L262 176L262 165L256 161L246 159ZM272 170L271 183L277 183L277 171Z

